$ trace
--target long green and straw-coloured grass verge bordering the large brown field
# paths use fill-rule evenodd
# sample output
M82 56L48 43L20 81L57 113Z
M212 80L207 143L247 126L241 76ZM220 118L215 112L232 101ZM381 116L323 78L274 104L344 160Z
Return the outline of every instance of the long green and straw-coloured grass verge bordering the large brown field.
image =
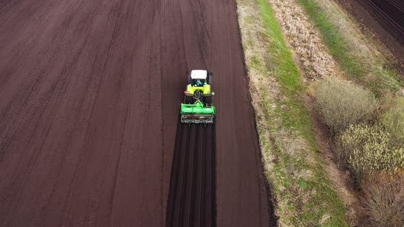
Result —
M238 6L258 12L239 15L239 20L242 34L253 36L243 36L243 47L249 75L256 77L251 81L259 81L251 82L251 96L280 226L348 226L346 207L327 176L302 100L307 88L270 5L266 0L238 0ZM249 25L260 29L249 31Z

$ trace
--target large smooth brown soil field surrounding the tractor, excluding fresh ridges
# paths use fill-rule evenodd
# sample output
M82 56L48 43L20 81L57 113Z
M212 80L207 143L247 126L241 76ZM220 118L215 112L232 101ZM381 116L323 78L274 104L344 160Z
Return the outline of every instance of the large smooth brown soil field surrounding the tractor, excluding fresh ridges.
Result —
M215 75L216 222L268 226L234 1L3 1L0 34L0 226L164 226L192 68Z

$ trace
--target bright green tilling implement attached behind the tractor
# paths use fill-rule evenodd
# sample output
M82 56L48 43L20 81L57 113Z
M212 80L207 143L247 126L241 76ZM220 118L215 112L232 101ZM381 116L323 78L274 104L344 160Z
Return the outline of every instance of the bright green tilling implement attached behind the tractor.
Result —
M181 103L180 114L181 123L212 124L216 109L197 100L194 104Z

